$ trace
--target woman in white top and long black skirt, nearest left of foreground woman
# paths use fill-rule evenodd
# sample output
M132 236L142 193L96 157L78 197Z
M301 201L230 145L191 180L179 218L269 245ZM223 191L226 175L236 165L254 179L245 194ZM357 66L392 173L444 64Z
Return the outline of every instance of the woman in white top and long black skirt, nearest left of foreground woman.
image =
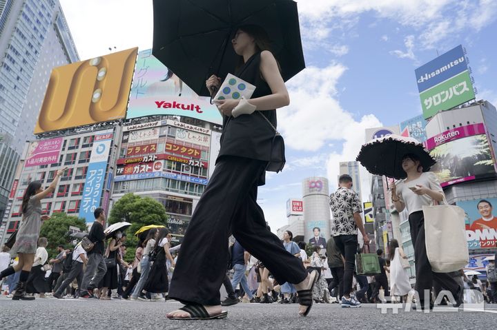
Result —
M157 256L153 261L150 274L148 274L148 278L145 282L145 291L150 293L166 293L169 291L166 260L169 260L173 267L175 265L173 257L169 252L170 238L171 235L169 234L169 230L167 228L159 229L159 237L155 241L153 249L153 251L157 252Z

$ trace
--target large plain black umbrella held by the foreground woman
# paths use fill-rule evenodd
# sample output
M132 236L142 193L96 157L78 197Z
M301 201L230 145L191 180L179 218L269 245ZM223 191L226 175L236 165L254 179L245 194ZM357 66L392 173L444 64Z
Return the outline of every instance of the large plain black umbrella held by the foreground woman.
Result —
M210 96L212 74L234 73L231 39L240 25L269 34L284 81L305 68L297 3L293 0L154 0L153 55L197 94Z

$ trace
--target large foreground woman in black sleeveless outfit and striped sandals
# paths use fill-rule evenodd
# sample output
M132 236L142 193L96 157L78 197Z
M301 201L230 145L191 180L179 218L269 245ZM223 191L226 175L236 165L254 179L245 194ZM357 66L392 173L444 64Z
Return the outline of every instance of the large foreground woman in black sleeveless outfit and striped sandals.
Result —
M186 230L170 283L169 298L185 306L167 317L226 318L220 305L220 287L226 273L226 243L230 234L264 263L277 282L295 285L300 291L299 315L306 316L313 302L312 289L318 272L308 274L302 260L284 249L280 239L266 229L264 212L257 205L257 187L264 185L275 136L266 119L276 127L275 109L289 105L289 94L262 28L241 26L232 44L240 56L240 68L233 68L235 76L256 89L250 100L217 102L223 114L220 153ZM206 86L215 90L220 83L220 78L211 76Z

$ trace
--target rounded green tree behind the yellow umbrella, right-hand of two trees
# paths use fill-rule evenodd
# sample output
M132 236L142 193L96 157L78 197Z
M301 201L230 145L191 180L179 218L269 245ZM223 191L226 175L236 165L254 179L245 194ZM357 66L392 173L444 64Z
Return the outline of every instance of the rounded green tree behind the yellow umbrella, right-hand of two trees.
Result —
M132 261L135 258L135 248L138 244L135 232L146 225L167 226L168 216L164 205L157 202L157 200L129 193L117 200L108 216L108 223L110 225L121 221L132 224L126 230L127 238L125 245L128 247L128 251L126 252L126 256L124 256L126 260Z

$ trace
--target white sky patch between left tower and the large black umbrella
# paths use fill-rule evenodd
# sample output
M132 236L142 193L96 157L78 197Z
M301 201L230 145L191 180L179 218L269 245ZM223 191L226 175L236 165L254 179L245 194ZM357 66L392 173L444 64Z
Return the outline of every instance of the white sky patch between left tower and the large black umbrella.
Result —
M152 1L60 0L81 60L117 50L152 48Z

